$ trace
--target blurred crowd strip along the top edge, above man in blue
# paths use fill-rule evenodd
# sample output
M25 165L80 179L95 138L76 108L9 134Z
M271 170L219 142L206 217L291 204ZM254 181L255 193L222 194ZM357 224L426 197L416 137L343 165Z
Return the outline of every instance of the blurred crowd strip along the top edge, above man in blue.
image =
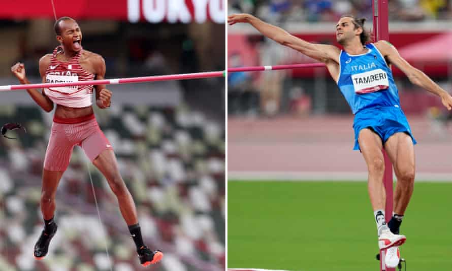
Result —
M373 0L261 0L229 1L229 13L251 13L270 23L337 21L342 15L372 17ZM446 20L452 0L390 0L390 20Z

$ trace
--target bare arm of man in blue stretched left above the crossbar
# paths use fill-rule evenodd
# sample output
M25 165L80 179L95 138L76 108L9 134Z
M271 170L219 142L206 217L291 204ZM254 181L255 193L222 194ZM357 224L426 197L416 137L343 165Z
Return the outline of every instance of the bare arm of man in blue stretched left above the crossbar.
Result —
M339 59L340 50L336 46L306 42L290 35L290 33L280 27L263 22L249 14L233 14L228 17L228 23L230 25L236 23L249 23L265 37L321 62L326 63L330 60L337 62Z

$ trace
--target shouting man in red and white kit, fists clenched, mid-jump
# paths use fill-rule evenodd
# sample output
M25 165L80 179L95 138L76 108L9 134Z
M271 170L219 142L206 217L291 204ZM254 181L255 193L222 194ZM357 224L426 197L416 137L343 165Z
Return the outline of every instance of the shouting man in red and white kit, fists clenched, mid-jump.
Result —
M104 58L82 48L82 32L77 22L70 17L62 17L55 22L54 28L60 46L52 54L46 54L39 60L42 81L59 83L104 79ZM23 63L16 63L11 71L21 84L29 84ZM44 230L35 245L35 257L42 259L47 255L50 240L55 235L56 188L69 165L74 146L78 145L102 172L116 195L119 210L137 246L141 264L147 266L162 259L162 252L151 251L144 245L134 199L119 174L113 148L93 114L93 86L45 88L42 92L27 89L27 92L46 112L52 111L56 104L42 177L41 211ZM110 107L111 95L105 85L95 86L95 101L99 108Z

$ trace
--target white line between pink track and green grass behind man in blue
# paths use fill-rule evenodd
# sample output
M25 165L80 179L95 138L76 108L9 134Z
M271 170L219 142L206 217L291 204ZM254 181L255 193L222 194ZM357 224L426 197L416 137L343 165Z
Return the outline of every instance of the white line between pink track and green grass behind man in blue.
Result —
M279 172L279 171L229 171L229 180L248 181L367 181L367 172ZM394 180L396 177L394 176ZM452 182L452 173L416 173L416 181Z

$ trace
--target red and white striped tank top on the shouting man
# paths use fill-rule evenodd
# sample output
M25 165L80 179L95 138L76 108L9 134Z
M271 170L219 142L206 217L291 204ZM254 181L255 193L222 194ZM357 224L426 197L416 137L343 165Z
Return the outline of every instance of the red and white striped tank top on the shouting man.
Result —
M60 46L53 50L52 58L46 70L46 83L67 83L93 80L94 75L88 73L80 65L80 50L69 61L60 61L56 58ZM92 105L91 95L93 86L70 86L44 88L44 93L57 105L82 108Z

